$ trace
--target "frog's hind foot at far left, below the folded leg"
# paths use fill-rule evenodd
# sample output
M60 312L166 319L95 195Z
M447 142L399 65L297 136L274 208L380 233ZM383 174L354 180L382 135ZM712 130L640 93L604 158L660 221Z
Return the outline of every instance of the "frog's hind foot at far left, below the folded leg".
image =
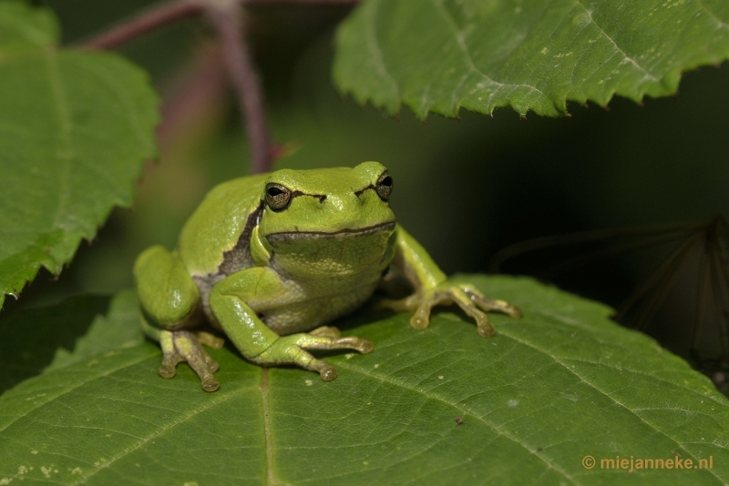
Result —
M218 370L218 362L202 349L204 344L212 349L221 349L225 341L209 332L189 330L163 330L159 333L162 348L162 364L159 375L172 378L177 374L177 365L187 361L190 368L200 377L200 386L205 391L215 391L221 384L212 376Z

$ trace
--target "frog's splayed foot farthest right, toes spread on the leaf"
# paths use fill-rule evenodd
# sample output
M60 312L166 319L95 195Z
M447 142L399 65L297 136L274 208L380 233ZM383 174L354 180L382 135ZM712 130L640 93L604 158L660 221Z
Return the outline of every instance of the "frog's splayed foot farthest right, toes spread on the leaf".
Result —
M521 317L521 310L504 300L488 299L475 287L468 284L444 282L435 289L427 289L405 299L385 299L378 307L392 309L395 312L415 311L410 319L413 329L426 329L430 324L430 310L437 305L457 304L466 314L476 320L478 334L490 338L496 331L488 322L487 312L496 310L512 318Z

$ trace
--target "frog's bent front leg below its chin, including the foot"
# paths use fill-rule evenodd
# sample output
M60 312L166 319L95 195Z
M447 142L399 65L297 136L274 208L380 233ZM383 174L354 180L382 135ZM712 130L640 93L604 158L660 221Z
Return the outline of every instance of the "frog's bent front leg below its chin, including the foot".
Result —
M222 279L210 291L210 309L241 354L262 366L294 364L304 370L316 371L322 380L336 378L336 369L313 357L312 349L356 349L368 353L372 341L338 335L335 328L314 329L311 333L279 336L263 323L252 309L252 303L275 306L291 289L271 269L253 267ZM249 305L251 304L251 305Z

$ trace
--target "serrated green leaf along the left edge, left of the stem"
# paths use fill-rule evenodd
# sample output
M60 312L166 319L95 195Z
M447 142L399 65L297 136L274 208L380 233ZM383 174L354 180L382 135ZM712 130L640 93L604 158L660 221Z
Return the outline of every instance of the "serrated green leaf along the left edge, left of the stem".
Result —
M56 47L46 9L0 2L0 305L57 274L155 156L158 98L119 56Z

